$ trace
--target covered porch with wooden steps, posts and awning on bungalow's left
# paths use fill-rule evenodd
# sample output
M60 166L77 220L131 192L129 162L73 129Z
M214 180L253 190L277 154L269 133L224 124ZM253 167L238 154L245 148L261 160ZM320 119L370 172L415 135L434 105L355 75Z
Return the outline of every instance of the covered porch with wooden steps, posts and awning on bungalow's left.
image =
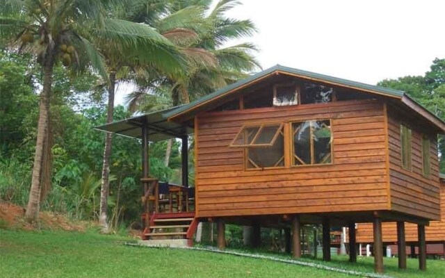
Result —
M100 131L117 133L141 141L142 178L141 211L143 223L141 238L146 240L187 240L192 244L197 228L195 219L195 188L188 182L188 136L193 133L193 122L169 122L165 113L175 108L130 117L125 120L97 126ZM150 142L181 141L181 184L161 182L150 175Z

